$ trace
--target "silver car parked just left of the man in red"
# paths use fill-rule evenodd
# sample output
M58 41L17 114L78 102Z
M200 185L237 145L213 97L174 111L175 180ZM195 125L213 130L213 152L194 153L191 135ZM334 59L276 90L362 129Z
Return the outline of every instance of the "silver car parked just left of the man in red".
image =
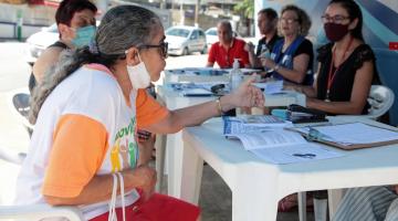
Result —
M191 52L207 52L205 32L196 27L177 25L166 30L168 53L187 55Z

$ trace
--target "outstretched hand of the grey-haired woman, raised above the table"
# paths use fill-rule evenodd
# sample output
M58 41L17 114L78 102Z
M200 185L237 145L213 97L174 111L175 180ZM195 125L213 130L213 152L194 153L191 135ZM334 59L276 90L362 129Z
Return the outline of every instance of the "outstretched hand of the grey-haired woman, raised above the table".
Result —
M232 92L232 102L237 107L263 107L264 106L264 95L260 88L253 86L252 83L255 82L255 74L250 76L250 78L243 82L239 88Z

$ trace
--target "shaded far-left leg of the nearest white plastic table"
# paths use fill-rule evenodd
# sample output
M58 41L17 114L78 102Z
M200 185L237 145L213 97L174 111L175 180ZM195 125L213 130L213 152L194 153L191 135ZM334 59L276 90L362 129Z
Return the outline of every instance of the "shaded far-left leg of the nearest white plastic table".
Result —
M180 193L182 200L198 204L202 171L203 159L188 143L184 143Z

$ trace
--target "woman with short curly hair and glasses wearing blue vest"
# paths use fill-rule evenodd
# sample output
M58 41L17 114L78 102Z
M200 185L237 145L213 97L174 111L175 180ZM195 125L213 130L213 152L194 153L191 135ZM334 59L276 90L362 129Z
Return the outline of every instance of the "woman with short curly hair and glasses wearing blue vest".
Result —
M313 44L305 39L311 28L308 14L289 4L281 11L279 30L283 36L272 50L271 57L261 60L269 76L293 84L313 83Z

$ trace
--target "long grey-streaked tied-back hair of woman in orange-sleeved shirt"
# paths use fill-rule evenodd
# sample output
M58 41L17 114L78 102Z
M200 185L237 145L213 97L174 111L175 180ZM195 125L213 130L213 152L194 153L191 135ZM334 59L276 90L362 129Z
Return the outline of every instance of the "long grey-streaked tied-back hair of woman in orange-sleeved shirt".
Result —
M43 82L33 92L30 122L35 123L45 98L78 67L98 63L113 70L118 60L126 57L126 50L149 44L161 27L159 17L142 7L119 6L107 11L95 33L95 41L76 51L64 51L57 65L45 73Z

